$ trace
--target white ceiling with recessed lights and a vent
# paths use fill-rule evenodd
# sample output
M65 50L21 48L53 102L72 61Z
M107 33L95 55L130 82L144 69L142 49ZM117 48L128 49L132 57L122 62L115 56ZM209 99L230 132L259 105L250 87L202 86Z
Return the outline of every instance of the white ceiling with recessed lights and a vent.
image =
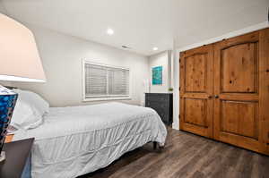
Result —
M1 1L1 0L0 0ZM2 0L25 21L153 55L267 21L269 0ZM106 30L115 30L108 36ZM175 44L174 44L175 43ZM158 47L158 51L152 51Z

